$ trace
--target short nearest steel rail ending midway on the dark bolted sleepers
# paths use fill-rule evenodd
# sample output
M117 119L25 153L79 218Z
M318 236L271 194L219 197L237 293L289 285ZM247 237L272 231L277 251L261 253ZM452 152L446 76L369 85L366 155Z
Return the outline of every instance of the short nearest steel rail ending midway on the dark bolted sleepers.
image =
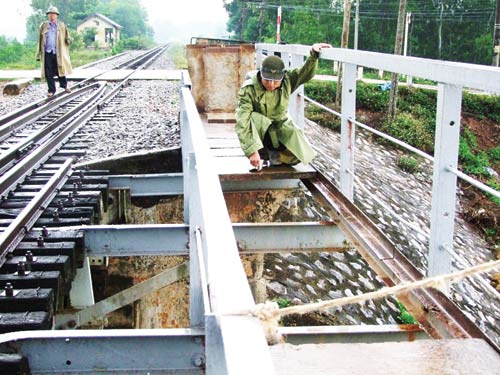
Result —
M73 159L68 158L44 187L36 193L30 203L0 234L0 267L4 264L8 254L19 245L25 234L42 215L44 208L48 206L67 182L72 163Z

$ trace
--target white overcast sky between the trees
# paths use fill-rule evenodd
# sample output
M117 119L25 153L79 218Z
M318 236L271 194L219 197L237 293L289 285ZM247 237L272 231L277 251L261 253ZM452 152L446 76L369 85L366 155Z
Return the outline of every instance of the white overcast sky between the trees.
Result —
M69 0L71 1L71 0ZM227 13L222 0L141 0L157 42L188 42L192 36L227 36ZM30 0L2 1L0 35L23 41ZM64 21L64 14L61 14Z

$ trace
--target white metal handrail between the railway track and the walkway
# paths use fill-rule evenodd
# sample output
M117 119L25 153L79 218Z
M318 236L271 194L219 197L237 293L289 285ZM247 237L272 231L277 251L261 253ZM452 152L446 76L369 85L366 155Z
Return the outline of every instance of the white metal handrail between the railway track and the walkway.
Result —
M187 78L187 72L184 77ZM187 203L184 215L190 228L190 267L193 270L190 272L190 322L192 326L205 325L207 373L274 374L258 319L225 315L252 308L255 302L238 254L213 156L189 87L181 85L180 100L184 201ZM205 264L206 281L200 274L200 262ZM207 285L203 285L204 282ZM206 289L210 306L203 306L202 290ZM252 356L243 358L238 355L242 352L251 352ZM236 356L241 360L234 361Z

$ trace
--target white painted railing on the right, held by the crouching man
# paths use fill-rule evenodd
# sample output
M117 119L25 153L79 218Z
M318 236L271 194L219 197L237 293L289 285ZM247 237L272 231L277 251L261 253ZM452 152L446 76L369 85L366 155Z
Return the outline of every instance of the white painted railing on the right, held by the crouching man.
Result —
M256 44L258 64L264 51L267 54L279 52L281 56L286 57L287 61L289 59L296 62L290 64L291 67L296 67L299 65L298 62L303 61L304 56L309 55L310 47ZM356 71L358 66L438 82L434 158L393 137L383 136L426 159L434 161L428 275L435 276L450 272L452 255L446 249L453 249L457 176L496 197L500 197L500 192L458 171L462 90L469 88L486 91L490 94L500 94L500 69L341 48L323 49L320 58L339 61L344 66L341 113L331 112L341 117L339 186L342 193L350 200L353 199L354 192L355 128L360 126L381 135L380 132L356 121ZM290 114L297 126L303 128L304 103L297 97L303 97L302 92L299 92L291 100Z

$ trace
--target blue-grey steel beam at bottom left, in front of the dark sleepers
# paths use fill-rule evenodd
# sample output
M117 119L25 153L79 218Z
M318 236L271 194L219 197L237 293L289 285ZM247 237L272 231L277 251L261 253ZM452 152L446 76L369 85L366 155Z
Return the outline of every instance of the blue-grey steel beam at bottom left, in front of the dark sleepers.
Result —
M203 374L204 364L203 331L190 329L7 333L0 351L28 358L37 374Z

